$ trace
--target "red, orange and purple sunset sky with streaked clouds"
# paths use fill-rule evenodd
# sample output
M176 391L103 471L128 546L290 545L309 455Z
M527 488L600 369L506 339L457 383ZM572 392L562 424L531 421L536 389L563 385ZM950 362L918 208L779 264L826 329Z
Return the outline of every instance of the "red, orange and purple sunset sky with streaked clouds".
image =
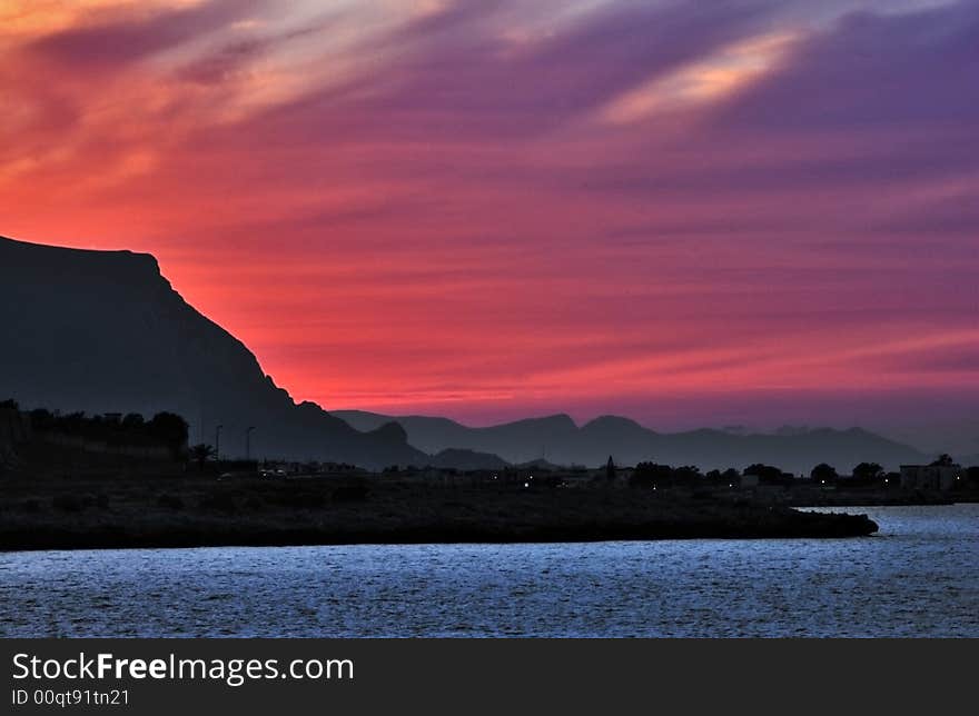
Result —
M0 0L0 235L154 253L326 409L975 417L977 38L979 2Z

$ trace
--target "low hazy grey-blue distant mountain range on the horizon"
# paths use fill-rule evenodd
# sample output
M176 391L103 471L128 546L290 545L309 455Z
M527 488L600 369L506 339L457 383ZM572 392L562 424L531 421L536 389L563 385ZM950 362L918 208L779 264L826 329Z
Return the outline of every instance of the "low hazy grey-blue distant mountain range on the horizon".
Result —
M465 448L498 455L511 463L545 458L558 465L595 467L611 455L619 465L652 460L669 465L696 465L701 469L734 467L753 463L775 465L808 474L819 463L829 463L841 474L862 461L880 463L889 469L924 461L928 456L900 442L860 428L783 430L775 435L740 435L722 430L655 432L634 420L615 416L596 418L577 426L566 415L518 420L473 428L446 418L388 416L359 410L337 410L360 430L397 421L408 441L428 453Z

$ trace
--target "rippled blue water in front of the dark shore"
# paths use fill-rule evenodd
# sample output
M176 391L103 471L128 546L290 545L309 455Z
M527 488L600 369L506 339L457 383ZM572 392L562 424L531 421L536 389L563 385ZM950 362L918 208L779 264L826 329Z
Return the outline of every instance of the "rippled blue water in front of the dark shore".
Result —
M979 636L979 505L862 539L0 554L0 636Z

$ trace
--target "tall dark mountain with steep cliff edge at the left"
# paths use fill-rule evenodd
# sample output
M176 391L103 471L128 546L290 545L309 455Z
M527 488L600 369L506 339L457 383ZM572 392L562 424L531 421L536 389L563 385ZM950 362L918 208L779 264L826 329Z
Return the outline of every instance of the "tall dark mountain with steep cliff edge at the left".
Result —
M425 465L397 424L359 431L276 386L152 256L0 237L0 399L62 412L177 412L228 457Z

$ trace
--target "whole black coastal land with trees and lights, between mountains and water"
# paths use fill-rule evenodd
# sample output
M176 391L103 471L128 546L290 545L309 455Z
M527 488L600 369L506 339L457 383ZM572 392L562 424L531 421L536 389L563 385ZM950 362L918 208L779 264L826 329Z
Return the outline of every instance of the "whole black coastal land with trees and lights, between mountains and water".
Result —
M218 460L188 446L179 416L34 416L7 409L0 550L227 545L594 541L858 537L866 515L808 505L943 503L975 493L902 490L879 466L809 479L644 463L594 469L538 463L498 470ZM18 414L23 415L23 414ZM23 426L21 426L23 427ZM943 468L942 468L943 469Z

